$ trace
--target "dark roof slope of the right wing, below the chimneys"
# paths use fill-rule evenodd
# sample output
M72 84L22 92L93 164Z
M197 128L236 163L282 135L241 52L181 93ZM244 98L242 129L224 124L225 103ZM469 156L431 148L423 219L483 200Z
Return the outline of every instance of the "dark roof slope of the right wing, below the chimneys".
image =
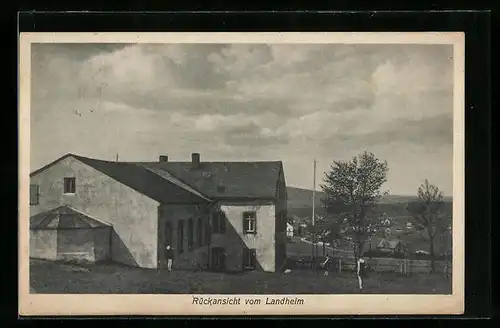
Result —
M212 199L275 199L282 164L269 162L141 162L170 172L182 182ZM223 189L221 189L221 187Z

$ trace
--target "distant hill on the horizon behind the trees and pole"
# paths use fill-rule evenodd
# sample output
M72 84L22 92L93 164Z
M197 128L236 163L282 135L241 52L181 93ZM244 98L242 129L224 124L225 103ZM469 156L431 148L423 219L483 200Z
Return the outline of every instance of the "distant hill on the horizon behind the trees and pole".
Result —
M312 190L287 187L288 193L288 212L291 215L297 216L310 216L312 212ZM316 191L315 204L316 212L319 215L323 214L321 199L325 196L322 191ZM380 209L390 216L406 216L406 204L410 201L417 199L417 196L401 196L401 195L388 195L380 201ZM445 206L447 211L451 212L452 208L451 197L445 197Z

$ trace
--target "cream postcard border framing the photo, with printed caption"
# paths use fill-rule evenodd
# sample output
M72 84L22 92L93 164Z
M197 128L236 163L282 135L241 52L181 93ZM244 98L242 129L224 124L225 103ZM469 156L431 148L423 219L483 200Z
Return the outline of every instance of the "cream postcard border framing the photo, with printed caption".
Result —
M19 39L19 314L33 315L359 315L462 314L464 311L465 35L460 32L21 33ZM240 305L195 305L193 295L42 295L29 286L31 43L349 43L454 47L453 274L451 295L281 295L303 304L266 305L280 295L239 297ZM245 305L245 299L261 299Z

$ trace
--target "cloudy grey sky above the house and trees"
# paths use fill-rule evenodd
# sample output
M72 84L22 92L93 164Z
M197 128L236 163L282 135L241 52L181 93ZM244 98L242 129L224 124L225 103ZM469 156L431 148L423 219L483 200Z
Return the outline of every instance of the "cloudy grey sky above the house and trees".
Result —
M452 194L453 49L445 45L34 44L32 171L114 160L282 160L312 188L364 150L385 188Z

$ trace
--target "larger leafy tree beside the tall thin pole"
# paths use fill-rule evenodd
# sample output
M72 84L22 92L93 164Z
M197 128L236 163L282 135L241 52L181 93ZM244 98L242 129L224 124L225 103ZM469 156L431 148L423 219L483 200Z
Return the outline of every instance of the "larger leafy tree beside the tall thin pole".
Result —
M365 151L350 161L334 161L321 185L325 209L336 217L342 239L352 245L356 261L365 242L386 223L386 217L376 213L376 204L386 194L381 188L387 172L386 161Z

